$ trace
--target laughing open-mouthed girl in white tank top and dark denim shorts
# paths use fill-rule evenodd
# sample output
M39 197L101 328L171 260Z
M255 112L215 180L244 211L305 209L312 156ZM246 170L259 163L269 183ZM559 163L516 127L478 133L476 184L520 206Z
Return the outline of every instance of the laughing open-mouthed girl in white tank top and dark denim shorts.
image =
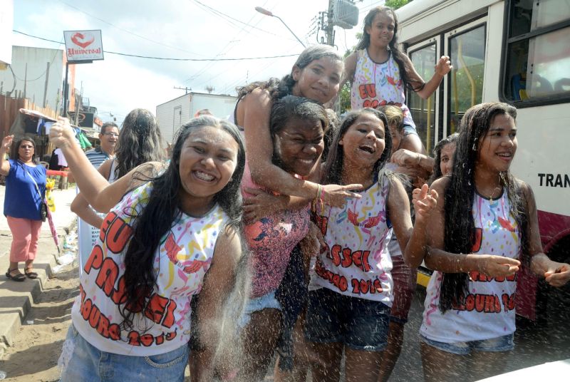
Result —
M423 186L414 200L412 227L408 195L386 169L391 148L385 115L364 108L346 115L329 152L324 183L360 183L363 191L345 207L324 205L316 212L325 245L316 259L305 321L318 356L314 381L339 381L343 352L347 381L378 380L393 300L387 251L392 231L410 267L423 257L417 244L425 240L425 217L437 195Z

